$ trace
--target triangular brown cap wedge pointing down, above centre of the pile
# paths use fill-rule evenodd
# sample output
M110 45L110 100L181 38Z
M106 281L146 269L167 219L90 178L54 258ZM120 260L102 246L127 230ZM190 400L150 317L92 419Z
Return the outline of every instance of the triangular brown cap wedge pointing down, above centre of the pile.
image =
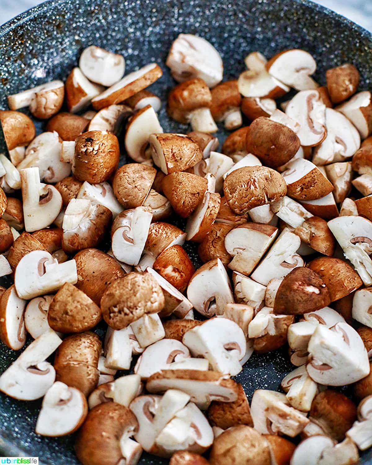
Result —
M162 180L162 191L173 210L187 218L202 201L208 181L191 173L170 173Z

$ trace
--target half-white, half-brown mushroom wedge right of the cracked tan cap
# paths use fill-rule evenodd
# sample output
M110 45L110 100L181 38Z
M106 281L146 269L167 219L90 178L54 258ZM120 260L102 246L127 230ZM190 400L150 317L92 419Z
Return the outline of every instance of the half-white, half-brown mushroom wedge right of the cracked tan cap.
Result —
M316 200L333 191L333 185L311 161L295 159L282 173L287 184L287 195L296 200Z

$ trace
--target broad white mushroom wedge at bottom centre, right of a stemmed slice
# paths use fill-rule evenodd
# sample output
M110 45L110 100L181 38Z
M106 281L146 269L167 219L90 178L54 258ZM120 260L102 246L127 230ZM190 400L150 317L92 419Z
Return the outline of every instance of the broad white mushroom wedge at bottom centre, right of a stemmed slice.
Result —
M213 443L213 431L203 413L190 402L176 413L156 438L156 445L167 455L178 450L205 452Z

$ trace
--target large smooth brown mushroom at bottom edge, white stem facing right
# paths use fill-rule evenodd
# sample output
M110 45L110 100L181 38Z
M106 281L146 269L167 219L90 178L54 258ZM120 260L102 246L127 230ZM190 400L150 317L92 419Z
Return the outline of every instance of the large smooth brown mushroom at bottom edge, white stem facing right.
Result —
M124 405L109 402L92 409L81 426L75 452L83 465L136 465L142 447L130 439L138 431L135 415Z

